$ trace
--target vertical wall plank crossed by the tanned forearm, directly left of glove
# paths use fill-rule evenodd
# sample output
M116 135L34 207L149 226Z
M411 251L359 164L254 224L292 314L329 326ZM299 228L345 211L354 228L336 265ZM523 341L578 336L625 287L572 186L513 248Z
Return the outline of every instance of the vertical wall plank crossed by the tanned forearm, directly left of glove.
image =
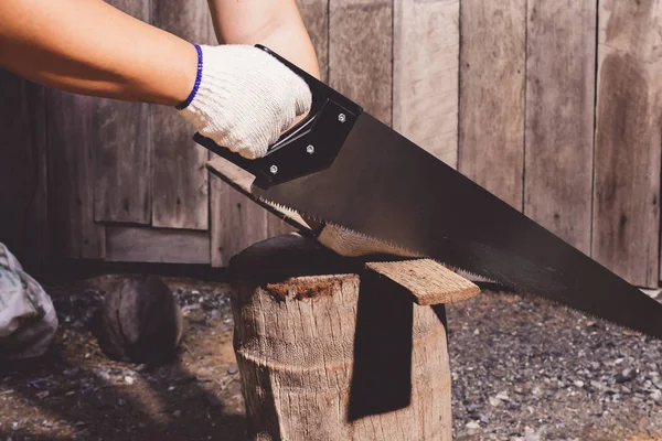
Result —
M153 0L152 24L192 43L216 43L204 0ZM152 225L207 229L207 151L192 141L193 128L173 108L153 106Z

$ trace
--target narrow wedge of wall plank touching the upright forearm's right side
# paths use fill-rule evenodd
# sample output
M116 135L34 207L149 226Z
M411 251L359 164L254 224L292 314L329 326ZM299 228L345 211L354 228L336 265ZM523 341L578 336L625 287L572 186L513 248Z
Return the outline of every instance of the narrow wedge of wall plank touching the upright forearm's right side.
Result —
M303 24L314 46L322 82L329 79L329 0L297 0Z

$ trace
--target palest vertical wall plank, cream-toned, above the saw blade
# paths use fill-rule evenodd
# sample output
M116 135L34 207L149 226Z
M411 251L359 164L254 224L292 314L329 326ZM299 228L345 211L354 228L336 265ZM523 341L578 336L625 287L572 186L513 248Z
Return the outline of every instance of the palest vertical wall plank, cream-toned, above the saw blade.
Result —
M453 168L459 23L459 0L395 0L393 128Z

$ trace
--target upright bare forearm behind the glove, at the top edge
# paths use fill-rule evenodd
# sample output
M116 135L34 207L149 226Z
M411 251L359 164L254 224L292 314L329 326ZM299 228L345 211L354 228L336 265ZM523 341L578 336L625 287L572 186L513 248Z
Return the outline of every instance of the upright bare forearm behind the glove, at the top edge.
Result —
M295 0L209 0L220 43L264 44L319 78L314 49Z

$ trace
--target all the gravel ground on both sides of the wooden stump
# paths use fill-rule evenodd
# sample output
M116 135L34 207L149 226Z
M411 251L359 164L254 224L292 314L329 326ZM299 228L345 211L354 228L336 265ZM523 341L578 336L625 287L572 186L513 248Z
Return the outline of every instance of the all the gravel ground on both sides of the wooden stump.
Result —
M108 280L47 287L49 354L0 366L0 441L245 440L229 287L169 279L181 351L145 368L88 332ZM662 343L535 298L487 291L448 308L456 440L662 440Z

